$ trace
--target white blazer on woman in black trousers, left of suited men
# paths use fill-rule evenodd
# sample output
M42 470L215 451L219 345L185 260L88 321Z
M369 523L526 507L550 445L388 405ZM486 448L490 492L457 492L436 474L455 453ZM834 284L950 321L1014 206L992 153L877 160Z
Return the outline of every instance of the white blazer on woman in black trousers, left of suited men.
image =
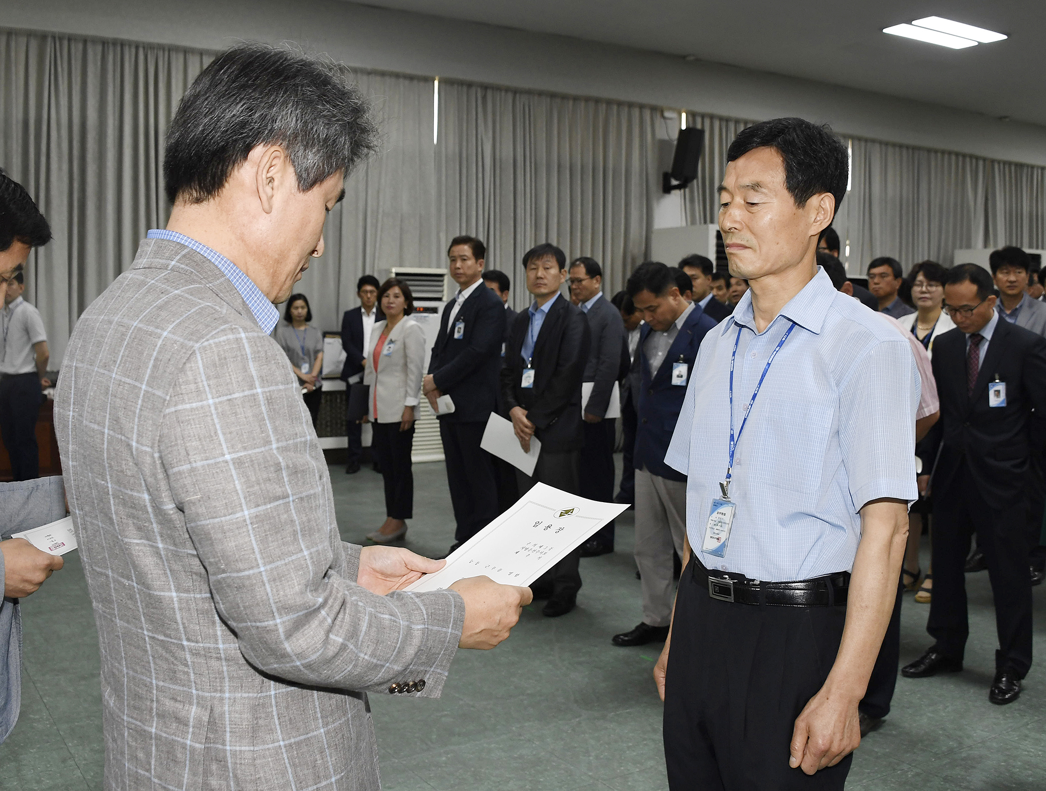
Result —
M378 356L374 371L374 345L385 331L387 322L374 323L367 344L367 367L363 382L370 386L367 396L370 419L376 423L399 423L404 406L416 406L420 401L423 367L425 366L425 330L410 317L400 320Z

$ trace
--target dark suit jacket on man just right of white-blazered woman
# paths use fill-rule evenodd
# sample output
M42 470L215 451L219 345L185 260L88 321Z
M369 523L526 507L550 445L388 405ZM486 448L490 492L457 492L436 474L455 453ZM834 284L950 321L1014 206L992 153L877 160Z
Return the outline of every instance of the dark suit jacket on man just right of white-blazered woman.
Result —
M447 322L454 307L452 299L439 318L439 334L432 346L429 373L441 393L454 401L454 412L440 415L451 423L485 423L498 409L498 372L501 343L505 335L505 304L480 284L464 302L454 323L464 322L461 338L454 338Z

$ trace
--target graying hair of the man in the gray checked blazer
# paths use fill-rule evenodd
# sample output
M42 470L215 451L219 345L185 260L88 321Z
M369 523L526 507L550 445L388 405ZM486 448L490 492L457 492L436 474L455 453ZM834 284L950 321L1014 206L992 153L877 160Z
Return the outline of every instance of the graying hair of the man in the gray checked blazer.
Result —
M257 145L281 145L306 192L378 147L370 107L348 68L288 47L243 44L192 82L167 130L163 180L172 203L203 203Z

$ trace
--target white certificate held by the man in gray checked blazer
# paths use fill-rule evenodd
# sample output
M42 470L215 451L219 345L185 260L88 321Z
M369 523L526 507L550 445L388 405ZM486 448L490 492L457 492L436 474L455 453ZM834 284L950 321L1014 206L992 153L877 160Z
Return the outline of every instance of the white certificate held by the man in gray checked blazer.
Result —
M516 505L407 590L441 590L465 577L490 577L504 585L529 585L628 508L585 499L535 484Z

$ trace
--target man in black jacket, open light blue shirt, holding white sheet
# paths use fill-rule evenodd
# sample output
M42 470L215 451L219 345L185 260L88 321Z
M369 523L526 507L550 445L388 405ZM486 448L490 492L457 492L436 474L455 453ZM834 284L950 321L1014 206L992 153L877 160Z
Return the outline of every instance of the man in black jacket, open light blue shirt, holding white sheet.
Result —
M533 302L513 324L501 393L520 446L529 452L530 439L537 437L541 455L532 476L517 470L519 489L525 493L541 482L581 494L582 377L589 354L589 323L560 294L567 278L562 250L539 245L523 256L523 266ZM565 615L574 608L582 587L579 560L581 548L531 586L536 596L549 597L542 610L545 615Z

